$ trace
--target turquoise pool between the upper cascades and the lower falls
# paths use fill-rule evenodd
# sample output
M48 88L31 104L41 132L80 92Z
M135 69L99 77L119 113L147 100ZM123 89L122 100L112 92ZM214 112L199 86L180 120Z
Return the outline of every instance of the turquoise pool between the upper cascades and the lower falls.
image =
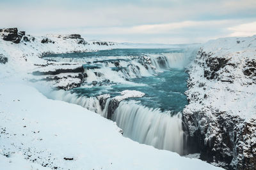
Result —
M183 70L168 70L157 76L134 78L132 81L143 85L110 85L109 87L90 87L73 89L82 96L98 96L100 94L111 94L111 97L120 95L123 90L138 90L146 95L141 98L129 100L140 101L148 108L159 108L161 111L182 111L188 104L184 94L187 90L186 80L188 74Z

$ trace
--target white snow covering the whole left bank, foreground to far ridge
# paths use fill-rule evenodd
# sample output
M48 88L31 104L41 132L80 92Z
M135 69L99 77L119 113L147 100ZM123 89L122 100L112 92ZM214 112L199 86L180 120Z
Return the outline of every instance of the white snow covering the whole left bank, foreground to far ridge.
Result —
M114 122L32 87L28 73L48 64L44 53L118 48L66 37L0 37L0 169L220 169L124 138Z

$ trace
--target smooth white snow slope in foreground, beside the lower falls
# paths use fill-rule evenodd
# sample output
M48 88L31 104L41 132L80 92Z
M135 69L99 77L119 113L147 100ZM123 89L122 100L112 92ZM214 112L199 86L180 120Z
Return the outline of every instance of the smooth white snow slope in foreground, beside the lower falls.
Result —
M113 122L28 85L2 82L0 94L4 155L21 152L52 169L220 169L124 138Z

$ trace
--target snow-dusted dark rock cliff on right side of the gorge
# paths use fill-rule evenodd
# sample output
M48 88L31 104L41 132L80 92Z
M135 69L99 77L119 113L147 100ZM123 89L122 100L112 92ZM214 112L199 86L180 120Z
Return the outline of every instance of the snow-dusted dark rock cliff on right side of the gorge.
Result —
M256 169L256 36L209 41L189 66L188 152L225 169Z

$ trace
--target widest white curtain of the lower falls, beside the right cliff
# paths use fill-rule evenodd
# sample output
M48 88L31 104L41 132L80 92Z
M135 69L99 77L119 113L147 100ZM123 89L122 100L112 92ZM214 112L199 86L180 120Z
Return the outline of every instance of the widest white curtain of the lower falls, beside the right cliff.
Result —
M182 120L171 117L170 111L161 112L122 101L116 108L113 121L124 131L124 136L152 145L155 148L183 153Z

